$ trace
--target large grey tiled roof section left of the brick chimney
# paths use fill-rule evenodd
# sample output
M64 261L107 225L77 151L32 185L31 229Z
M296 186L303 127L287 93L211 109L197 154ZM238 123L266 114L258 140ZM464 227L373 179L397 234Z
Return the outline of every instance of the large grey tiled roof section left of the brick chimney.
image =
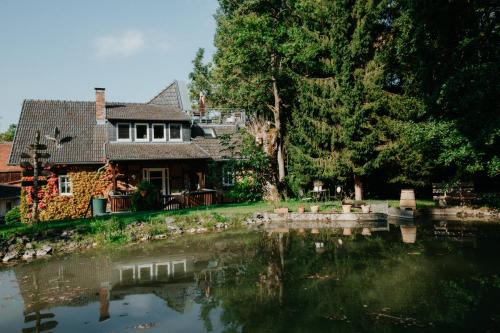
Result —
M61 148L47 140L53 136L55 127L60 138L71 137ZM9 164L19 164L21 153L34 142L40 130L42 144L46 144L48 160L59 164L97 164L103 162L104 144L107 140L106 125L97 124L95 102L25 100L14 138Z

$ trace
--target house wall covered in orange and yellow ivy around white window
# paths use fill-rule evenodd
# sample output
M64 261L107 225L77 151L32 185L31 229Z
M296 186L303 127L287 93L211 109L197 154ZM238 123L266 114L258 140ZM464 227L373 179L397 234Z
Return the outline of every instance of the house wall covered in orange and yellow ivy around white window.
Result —
M107 196L111 189L111 171L106 168L98 171L96 167L68 166L52 168L47 177L47 185L38 191L40 221L72 219L89 216L92 212L89 202L92 196ZM71 180L72 194L60 195L58 176L67 175ZM32 180L25 177L23 180ZM31 218L32 187L25 187L21 193L21 217L23 222Z

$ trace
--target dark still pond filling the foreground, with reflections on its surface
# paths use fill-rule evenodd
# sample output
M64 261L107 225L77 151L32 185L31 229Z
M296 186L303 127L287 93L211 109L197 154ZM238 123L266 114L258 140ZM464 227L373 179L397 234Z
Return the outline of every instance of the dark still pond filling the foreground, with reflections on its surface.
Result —
M488 226L232 231L0 270L0 332L500 332Z

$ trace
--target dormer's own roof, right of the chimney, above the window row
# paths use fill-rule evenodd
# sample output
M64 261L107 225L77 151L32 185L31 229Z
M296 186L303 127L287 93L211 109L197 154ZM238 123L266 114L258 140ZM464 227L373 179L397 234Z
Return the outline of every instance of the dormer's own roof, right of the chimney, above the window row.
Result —
M189 121L180 108L140 103L106 103L107 119Z

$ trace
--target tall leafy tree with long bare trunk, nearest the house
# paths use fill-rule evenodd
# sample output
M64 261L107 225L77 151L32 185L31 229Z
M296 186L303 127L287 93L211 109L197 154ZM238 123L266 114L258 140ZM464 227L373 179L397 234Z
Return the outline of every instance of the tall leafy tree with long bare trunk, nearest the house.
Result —
M277 131L277 183L284 189L289 96L288 7L284 0L220 0L214 57L218 100L229 107L272 115Z

